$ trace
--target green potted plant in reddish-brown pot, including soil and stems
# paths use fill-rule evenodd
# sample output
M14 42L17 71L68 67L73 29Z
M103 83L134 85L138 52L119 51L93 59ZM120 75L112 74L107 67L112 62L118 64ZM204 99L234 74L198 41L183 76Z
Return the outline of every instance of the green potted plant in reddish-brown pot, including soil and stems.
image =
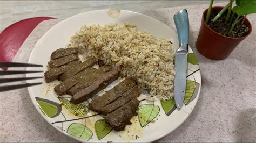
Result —
M246 15L256 12L256 1L233 0L225 7L210 6L203 13L196 42L199 53L212 60L223 60L252 32Z

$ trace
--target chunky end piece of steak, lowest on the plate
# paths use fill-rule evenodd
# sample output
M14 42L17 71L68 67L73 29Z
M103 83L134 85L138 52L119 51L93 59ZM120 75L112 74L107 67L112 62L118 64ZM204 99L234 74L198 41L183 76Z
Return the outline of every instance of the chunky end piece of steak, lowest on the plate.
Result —
M105 121L116 131L123 131L126 125L130 125L132 116L137 115L139 101L134 98L121 108L105 116Z

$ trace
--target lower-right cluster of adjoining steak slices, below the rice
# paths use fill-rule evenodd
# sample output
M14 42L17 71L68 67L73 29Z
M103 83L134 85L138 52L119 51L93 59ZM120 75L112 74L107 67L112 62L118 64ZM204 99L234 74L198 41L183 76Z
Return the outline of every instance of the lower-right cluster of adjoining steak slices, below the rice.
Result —
M126 78L103 96L94 99L89 108L106 115L105 121L114 130L122 131L131 124L132 116L137 115L140 89L132 77Z

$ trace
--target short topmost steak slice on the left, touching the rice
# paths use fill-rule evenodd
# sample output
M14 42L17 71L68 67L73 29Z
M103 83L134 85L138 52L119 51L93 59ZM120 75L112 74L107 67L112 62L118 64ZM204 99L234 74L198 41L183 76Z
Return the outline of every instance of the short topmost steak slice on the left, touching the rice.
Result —
M78 53L78 50L76 48L60 48L51 53L51 60L62 58L63 56L76 53Z

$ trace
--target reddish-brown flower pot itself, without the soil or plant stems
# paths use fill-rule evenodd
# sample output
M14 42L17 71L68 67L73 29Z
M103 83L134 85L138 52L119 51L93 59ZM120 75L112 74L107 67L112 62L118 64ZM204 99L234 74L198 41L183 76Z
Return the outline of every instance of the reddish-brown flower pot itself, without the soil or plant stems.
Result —
M212 12L218 12L223 7L213 7ZM252 32L252 25L246 18L244 24L248 27L249 33L244 37L232 38L225 35L221 35L213 31L206 23L205 18L207 15L206 9L201 18L201 27L196 42L196 47L199 53L204 55L206 58L212 60L223 60L231 54L237 45L244 40Z

